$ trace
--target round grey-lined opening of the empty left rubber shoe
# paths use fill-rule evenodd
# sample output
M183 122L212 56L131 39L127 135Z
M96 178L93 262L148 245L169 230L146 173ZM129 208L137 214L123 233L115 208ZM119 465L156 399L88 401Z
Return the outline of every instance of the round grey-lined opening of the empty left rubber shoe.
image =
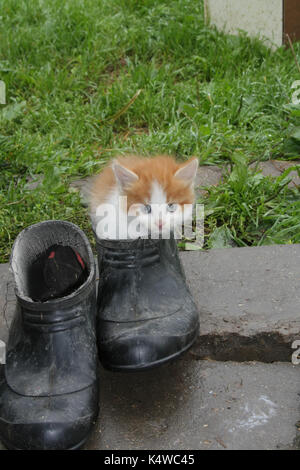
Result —
M94 269L85 234L74 224L47 221L24 229L11 256L17 293L35 302L68 296Z

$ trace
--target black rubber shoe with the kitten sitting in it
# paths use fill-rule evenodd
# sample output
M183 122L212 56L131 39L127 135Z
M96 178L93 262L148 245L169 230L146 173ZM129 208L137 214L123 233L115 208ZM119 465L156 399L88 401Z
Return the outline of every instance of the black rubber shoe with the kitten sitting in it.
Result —
M100 361L143 370L177 358L195 341L199 316L175 240L97 239Z

